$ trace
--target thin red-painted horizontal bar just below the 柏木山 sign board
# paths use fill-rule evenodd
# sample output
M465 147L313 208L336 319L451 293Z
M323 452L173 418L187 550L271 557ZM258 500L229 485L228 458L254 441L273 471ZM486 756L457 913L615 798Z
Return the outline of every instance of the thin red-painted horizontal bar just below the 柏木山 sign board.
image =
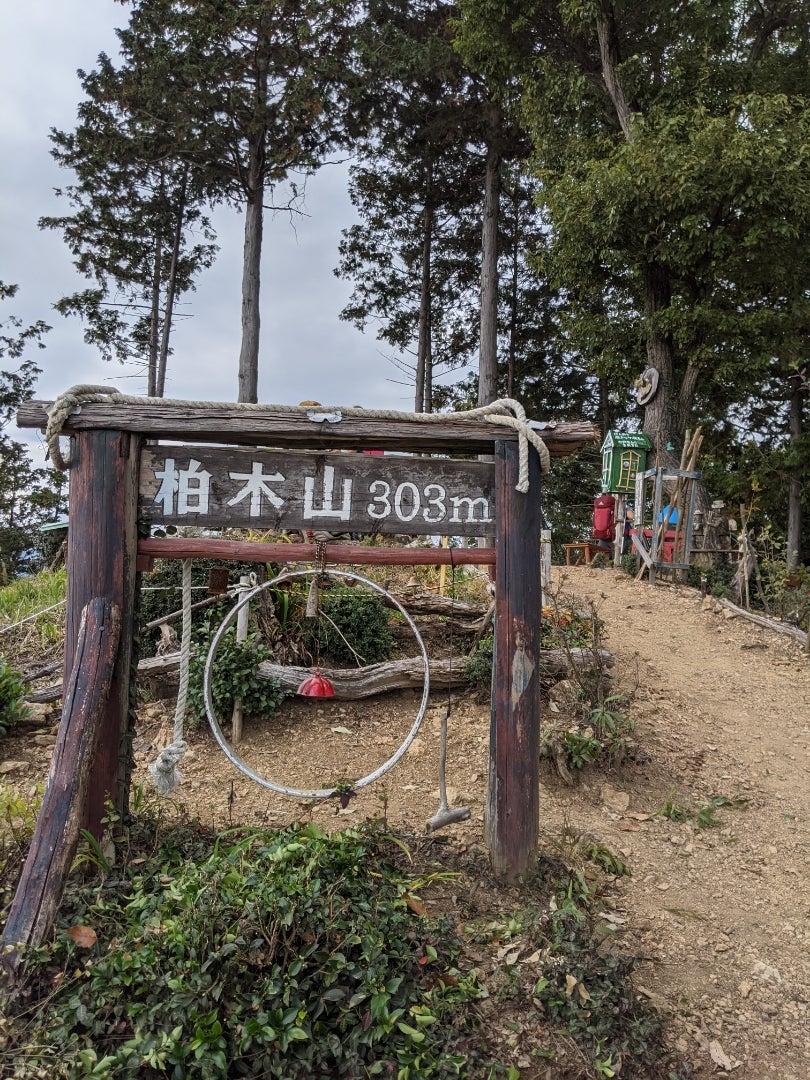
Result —
M327 543L326 563L342 566L491 566L494 548L370 548ZM138 555L148 558L221 558L241 563L308 563L314 565L313 543L261 543L207 537L149 537L138 540Z

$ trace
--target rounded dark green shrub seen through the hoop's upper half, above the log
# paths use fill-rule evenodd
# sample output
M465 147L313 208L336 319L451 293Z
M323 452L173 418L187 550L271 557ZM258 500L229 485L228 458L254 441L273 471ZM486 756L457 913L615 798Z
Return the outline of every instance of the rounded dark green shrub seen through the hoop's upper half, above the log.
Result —
M303 620L307 647L337 665L376 664L391 656L388 611L376 593L360 589L323 591L316 620Z

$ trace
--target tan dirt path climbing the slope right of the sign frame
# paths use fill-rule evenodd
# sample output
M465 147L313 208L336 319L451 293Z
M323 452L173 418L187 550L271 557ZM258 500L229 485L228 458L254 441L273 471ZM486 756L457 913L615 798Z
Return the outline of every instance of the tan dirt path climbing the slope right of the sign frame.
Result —
M638 985L672 1013L699 1077L726 1064L740 1078L805 1080L807 657L787 638L705 610L692 590L590 569L569 571L567 584L596 603L617 683L637 683L632 715L650 760L549 792L543 827L566 816L625 855L633 876L620 883L620 915L648 957ZM643 818L667 798L704 806L738 793L747 808L719 810L719 827Z

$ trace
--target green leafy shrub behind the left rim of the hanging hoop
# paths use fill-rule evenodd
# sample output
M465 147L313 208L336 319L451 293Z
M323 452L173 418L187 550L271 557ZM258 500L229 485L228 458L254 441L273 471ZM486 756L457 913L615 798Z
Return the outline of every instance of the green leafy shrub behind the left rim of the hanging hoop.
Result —
M197 723L205 720L203 674L208 653L210 638L203 635L189 665L188 707ZM225 718L233 711L233 702L242 699L245 716L272 716L288 691L283 690L278 678L259 676L259 664L267 660L269 650L255 636L246 642L237 640L237 632L229 627L220 638L211 677L211 696L217 716Z

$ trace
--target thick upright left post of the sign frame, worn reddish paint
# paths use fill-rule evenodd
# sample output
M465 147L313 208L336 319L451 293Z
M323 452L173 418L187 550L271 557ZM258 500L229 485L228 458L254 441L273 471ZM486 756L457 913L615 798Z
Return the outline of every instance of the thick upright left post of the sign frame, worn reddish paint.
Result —
M121 640L100 719L98 747L84 806L83 825L102 835L105 801L119 812L129 805L130 661L133 645L137 494L140 437L120 431L87 431L72 440L67 550L65 685L76 660L79 624L94 597L121 611ZM121 767L123 764L123 768Z

